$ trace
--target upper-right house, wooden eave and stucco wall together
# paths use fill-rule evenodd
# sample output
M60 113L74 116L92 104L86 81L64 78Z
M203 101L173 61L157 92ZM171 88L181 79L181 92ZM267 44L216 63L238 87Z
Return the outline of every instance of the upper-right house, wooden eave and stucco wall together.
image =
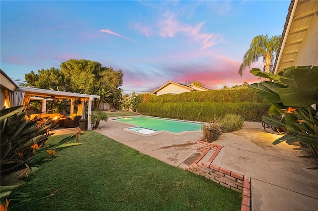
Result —
M274 73L290 66L318 66L318 0L292 0Z

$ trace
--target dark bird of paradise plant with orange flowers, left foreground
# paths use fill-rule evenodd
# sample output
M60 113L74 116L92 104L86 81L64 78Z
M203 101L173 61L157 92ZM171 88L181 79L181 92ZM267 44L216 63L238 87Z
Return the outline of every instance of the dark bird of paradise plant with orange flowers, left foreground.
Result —
M24 106L0 111L1 203L24 184L22 179L38 170L37 167L43 162L55 158L57 151L79 144L47 146L45 142L54 134L50 130L58 126L59 119L34 118L28 121L25 115Z

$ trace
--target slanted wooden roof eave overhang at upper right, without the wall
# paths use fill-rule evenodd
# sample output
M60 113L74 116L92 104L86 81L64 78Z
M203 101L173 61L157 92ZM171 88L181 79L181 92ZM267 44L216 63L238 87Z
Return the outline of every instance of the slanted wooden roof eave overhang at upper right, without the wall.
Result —
M282 33L274 73L293 65L294 59L318 8L317 0L292 0Z

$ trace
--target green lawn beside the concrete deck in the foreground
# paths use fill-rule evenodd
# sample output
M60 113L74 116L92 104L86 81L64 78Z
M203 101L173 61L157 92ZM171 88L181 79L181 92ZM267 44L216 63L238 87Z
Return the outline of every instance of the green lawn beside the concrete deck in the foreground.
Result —
M52 136L57 142L68 135ZM41 166L23 192L39 199L14 210L240 210L241 194L173 167L95 131ZM62 189L61 189L62 188Z

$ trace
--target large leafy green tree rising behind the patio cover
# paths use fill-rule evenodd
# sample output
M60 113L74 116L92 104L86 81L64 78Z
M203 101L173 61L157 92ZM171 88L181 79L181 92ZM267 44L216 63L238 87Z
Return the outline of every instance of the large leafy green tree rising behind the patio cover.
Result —
M61 63L61 70L52 67L38 70L38 74L31 71L25 74L25 80L28 86L36 88L99 95L100 99L92 105L98 109L110 95L113 99L121 97L117 95L121 95L118 87L123 84L123 76L121 70L103 67L97 61L70 59Z

